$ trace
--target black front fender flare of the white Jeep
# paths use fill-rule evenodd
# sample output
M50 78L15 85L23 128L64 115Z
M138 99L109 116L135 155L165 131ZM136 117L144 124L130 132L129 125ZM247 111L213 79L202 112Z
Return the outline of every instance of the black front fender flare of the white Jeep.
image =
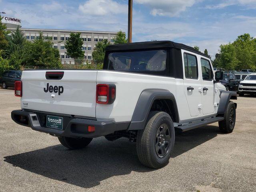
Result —
M225 113L230 99L237 100L237 93L233 92L233 91L224 91L224 90L220 91L220 102L219 102L219 107L218 107L217 114L224 114ZM235 103L235 106L237 106L236 103Z

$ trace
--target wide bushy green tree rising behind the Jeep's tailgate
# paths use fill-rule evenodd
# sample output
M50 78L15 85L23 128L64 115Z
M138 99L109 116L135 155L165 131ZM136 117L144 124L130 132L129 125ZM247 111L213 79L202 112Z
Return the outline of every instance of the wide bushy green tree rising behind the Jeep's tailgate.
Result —
M42 32L34 42L24 45L24 64L39 68L62 68L60 54L52 47L50 40L44 40Z

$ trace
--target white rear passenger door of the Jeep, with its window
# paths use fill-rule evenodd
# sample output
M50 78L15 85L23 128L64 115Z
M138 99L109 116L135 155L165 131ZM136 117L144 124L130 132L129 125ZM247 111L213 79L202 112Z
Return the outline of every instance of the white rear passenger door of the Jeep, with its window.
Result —
M184 94L188 102L190 115L200 115L202 102L200 89L201 79L198 75L198 61L194 53L182 50L183 73L184 73Z

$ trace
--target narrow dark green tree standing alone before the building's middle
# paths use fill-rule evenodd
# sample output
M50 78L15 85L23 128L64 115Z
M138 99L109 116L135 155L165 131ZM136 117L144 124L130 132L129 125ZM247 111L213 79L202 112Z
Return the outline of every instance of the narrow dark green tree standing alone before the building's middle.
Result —
M74 58L75 63L77 63L77 59L84 58L84 52L82 51L83 41L80 36L81 33L70 33L70 38L65 43L66 54Z

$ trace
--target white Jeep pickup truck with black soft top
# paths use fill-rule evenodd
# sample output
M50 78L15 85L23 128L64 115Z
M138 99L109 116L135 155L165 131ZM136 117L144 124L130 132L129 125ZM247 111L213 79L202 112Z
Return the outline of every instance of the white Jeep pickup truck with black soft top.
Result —
M21 110L12 119L57 136L70 149L92 138L137 142L142 164L168 164L175 129L219 122L230 133L235 92L218 83L208 56L171 41L110 45L103 70L27 70L15 84Z

